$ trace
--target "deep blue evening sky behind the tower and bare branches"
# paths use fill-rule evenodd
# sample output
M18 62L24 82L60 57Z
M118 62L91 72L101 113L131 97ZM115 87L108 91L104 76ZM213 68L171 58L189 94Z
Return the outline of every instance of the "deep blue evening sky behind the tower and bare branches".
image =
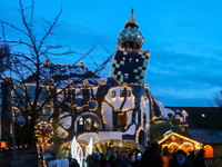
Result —
M28 6L29 0L23 0ZM144 36L142 50L151 57L144 82L164 106L209 106L222 86L222 1L77 1L36 0L34 24L43 32L42 20L53 20L62 7L49 43L69 46L87 52L98 40L114 52L119 32L134 9L139 30ZM0 1L0 19L21 27L17 0ZM6 27L8 40L20 39ZM41 36L41 33L39 35ZM21 37L22 38L22 37ZM91 56L101 62L108 53L97 47ZM73 63L78 56L53 58L57 63ZM85 66L93 70L89 58ZM109 75L110 66L103 72Z

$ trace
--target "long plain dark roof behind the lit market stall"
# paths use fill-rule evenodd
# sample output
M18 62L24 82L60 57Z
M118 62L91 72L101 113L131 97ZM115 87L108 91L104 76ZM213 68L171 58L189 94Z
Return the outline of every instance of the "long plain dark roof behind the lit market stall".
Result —
M183 109L188 112L189 129L222 130L222 108L220 107L165 107Z

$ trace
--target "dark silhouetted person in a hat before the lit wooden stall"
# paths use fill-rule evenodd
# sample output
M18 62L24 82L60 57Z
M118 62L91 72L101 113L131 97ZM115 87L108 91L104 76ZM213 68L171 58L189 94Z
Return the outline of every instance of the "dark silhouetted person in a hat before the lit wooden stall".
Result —
M176 153L176 158L173 158L169 167L192 167L191 161L186 158L186 153L182 149L179 149Z

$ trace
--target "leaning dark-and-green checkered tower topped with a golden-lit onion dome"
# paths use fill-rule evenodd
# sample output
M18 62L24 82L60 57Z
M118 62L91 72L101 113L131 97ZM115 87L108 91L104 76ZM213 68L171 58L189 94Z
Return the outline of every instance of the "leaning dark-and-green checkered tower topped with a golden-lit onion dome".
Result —
M121 85L143 85L150 51L141 50L144 38L138 28L132 9L124 29L119 33L110 72L110 77Z

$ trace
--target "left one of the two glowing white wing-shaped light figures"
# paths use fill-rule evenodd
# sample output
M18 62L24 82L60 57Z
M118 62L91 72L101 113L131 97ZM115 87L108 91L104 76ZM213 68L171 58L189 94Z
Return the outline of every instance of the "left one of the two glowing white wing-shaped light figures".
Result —
M71 155L72 155L72 158L77 159L78 164L81 167L82 161L83 161L83 150L81 146L79 145L79 143L77 141L75 136L73 137L72 144L71 144Z

